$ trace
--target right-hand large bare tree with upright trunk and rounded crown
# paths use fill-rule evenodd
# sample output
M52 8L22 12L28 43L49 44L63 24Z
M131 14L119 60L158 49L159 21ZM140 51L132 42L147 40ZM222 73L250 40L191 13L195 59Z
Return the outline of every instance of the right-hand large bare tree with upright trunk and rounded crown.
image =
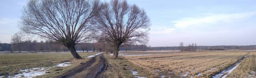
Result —
M99 33L96 39L114 47L116 58L121 44L147 43L150 19L144 9L125 0L112 0L102 6L95 17L95 29Z

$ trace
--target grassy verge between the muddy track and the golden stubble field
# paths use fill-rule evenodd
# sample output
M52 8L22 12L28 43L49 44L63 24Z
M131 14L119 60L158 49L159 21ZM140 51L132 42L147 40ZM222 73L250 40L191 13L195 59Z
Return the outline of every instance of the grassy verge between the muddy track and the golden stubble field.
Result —
M134 75L132 75L131 70L128 68L137 71L139 74L137 76L147 76L148 78L159 77L156 74L136 66L123 56L118 56L118 58L115 59L112 55L104 54L104 58L107 60L108 67L102 74L103 78L133 78Z

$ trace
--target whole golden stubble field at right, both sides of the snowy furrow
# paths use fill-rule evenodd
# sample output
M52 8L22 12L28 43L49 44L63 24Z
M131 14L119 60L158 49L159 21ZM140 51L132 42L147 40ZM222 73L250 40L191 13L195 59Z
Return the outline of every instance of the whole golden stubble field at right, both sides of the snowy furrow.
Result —
M241 60L242 62L237 65L237 69L234 68L234 71L230 71L230 73L224 72L216 78L226 74L228 74L226 77L255 77L255 53L255 51L206 51L128 56L127 59L145 70L165 75L164 77L167 78L214 77L228 67L234 68L232 66Z

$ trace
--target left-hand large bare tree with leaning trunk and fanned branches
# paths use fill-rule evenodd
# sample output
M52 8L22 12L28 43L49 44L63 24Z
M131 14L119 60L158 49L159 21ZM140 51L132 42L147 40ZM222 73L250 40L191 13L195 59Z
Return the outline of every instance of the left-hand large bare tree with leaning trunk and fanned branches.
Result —
M89 37L91 19L101 9L99 6L98 0L30 0L20 29L52 39L67 47L75 59L82 59L75 45Z

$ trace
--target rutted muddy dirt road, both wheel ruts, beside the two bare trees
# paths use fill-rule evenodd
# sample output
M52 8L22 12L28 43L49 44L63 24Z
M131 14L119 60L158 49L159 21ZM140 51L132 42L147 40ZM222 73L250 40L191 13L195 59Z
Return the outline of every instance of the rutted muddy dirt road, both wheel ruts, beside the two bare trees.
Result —
M100 59L98 59L100 60L100 62L94 64L95 61L97 61L97 57L100 57ZM94 66L91 66L92 64L94 64ZM73 78L76 74L82 73L85 70L89 73L84 75L84 78L100 78L101 73L104 72L104 70L106 69L106 65L106 60L104 59L103 54L100 54L95 57L92 57L88 62L79 65L66 73L63 73L62 75L55 76L54 78Z

